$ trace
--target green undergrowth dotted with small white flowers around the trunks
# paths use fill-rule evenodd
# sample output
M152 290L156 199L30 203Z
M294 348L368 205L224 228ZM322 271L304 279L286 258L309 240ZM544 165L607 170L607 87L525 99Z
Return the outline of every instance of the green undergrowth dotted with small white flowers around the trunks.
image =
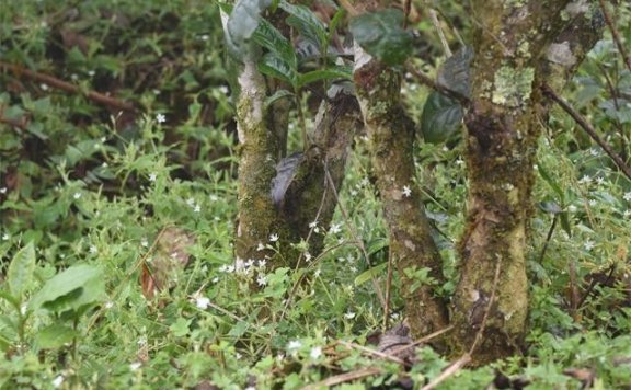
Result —
M333 226L316 231L326 234L321 256L300 269L234 263L236 125L218 10L115 3L0 4L0 61L137 107L0 71L0 388L418 388L437 378L452 360L427 346L408 368L358 346L376 347L388 260L365 138ZM569 99L628 154L631 116L612 108L605 79L629 93L631 74L612 45L599 43ZM418 118L426 89L408 77L404 93ZM562 112L551 123L537 158L524 355L461 369L441 389L631 383L631 183ZM416 152L445 296L458 277L461 152L457 140ZM274 237L262 244L275 248ZM404 317L398 283L394 273L390 325Z

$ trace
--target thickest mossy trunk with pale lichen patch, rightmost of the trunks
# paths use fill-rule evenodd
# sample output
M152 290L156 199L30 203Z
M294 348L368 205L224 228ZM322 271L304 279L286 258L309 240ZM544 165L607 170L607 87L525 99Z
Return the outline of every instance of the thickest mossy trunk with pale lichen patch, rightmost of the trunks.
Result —
M573 16L584 5L567 0L479 0L471 5L479 24L464 119L469 194L451 345L455 353L475 345L475 364L510 356L523 346L535 153L548 112L541 85L551 74L557 37L572 23L582 23L586 12ZM562 43L567 45L564 54L580 61L585 47L570 42L575 39ZM564 66L563 74L554 77L564 84L573 69L575 64Z

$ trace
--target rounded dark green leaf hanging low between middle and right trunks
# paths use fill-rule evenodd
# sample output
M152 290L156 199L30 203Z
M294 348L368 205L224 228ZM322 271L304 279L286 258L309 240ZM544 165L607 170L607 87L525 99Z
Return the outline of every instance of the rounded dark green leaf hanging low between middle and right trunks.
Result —
M423 106L421 133L426 142L439 144L455 135L464 114L460 103L439 92L432 92Z

